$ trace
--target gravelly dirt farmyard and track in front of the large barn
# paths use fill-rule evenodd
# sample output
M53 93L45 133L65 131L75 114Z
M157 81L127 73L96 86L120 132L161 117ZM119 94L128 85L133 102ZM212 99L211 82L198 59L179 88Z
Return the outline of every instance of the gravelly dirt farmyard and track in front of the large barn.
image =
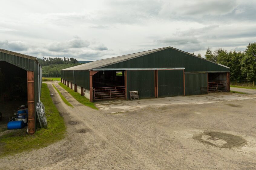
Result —
M55 83L57 85L57 83ZM67 137L0 159L0 169L256 169L256 95L99 102L99 111L49 83Z

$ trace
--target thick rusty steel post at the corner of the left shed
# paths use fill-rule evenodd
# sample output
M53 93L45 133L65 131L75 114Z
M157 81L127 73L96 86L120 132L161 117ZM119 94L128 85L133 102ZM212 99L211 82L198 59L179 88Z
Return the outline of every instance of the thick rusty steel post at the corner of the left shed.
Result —
M28 82L28 134L35 133L34 71L27 71Z

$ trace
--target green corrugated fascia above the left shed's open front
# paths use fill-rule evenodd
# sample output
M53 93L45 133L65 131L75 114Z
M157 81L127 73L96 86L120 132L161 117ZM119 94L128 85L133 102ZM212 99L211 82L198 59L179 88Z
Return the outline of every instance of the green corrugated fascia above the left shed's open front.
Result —
M15 55L0 52L0 61L6 61L12 65L15 65L27 71L34 71L35 60L32 59L22 58ZM37 69L37 67L35 69Z

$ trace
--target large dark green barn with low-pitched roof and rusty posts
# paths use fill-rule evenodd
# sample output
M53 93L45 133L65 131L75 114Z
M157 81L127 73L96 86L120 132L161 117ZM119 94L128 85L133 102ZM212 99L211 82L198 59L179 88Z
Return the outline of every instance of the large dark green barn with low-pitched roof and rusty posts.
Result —
M229 92L229 68L165 47L61 70L61 82L90 99L140 99Z

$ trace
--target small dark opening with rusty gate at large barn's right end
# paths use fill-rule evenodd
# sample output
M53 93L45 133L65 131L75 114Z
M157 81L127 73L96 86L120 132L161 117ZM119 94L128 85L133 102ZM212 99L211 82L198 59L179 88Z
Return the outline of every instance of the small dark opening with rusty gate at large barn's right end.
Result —
M227 73L208 73L208 90L212 92L227 92Z

